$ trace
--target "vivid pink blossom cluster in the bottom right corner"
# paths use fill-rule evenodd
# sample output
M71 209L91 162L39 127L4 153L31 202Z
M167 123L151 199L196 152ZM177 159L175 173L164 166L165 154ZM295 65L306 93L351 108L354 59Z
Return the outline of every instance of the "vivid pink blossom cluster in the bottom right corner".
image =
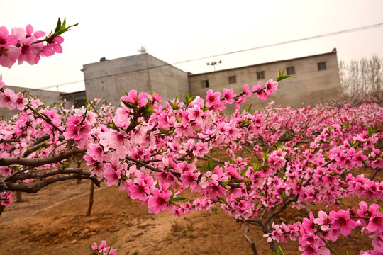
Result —
M326 242L335 242L340 235L348 237L356 227L362 227L363 234L370 234L373 239L374 250L361 251L360 254L378 255L383 253L383 214L379 211L379 205L373 203L368 206L364 201L359 203L360 209L331 210L326 213L323 210L314 217L310 212L309 218L294 224L272 225L272 232L265 234L268 241L277 242L299 241L299 251L302 254L330 254Z

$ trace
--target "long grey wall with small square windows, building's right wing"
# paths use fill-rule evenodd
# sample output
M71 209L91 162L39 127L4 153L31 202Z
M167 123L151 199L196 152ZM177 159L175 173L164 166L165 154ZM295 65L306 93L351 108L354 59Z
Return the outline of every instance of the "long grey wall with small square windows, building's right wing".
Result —
M318 71L318 63L326 62L326 69ZM258 81L265 84L269 79L276 79L278 70L294 67L295 74L288 79L279 81L278 90L262 103L260 98L252 96L245 104L250 104L260 109L271 101L276 105L299 108L304 105L316 105L341 93L339 81L339 68L336 50L333 52L300 57L292 60L281 60L265 64L256 64L247 67L220 70L204 74L189 75L189 87L191 96L204 96L208 89L223 91L223 88L233 88L235 94L243 89L243 84L249 84L250 88ZM257 72L265 72L265 79L257 79ZM229 84L228 77L235 76L236 83ZM209 80L209 88L203 88L201 81ZM228 106L227 111L233 112L235 106Z

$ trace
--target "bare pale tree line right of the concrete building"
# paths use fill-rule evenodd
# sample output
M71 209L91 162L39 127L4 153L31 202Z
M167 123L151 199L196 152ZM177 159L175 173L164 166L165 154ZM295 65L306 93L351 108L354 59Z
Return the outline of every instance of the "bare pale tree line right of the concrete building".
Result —
M360 60L352 60L346 63L339 62L340 86L345 94L356 92L371 93L383 89L382 58L372 55L369 59L362 57Z

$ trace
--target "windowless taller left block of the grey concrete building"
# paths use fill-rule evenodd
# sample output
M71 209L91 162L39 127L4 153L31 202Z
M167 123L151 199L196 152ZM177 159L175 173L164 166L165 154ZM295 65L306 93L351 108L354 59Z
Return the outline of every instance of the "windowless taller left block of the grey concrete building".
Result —
M84 64L87 98L100 97L120 105L126 91L155 91L163 100L184 97L189 91L187 73L148 53Z

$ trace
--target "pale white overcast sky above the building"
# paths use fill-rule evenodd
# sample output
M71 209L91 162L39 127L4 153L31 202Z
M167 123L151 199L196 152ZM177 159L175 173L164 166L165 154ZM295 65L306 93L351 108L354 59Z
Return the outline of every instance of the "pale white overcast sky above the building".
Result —
M0 67L7 85L59 91L84 89L83 64L148 53L170 64L278 42L383 23L383 1L28 1L0 0L0 26L9 30L31 24L49 33L57 18L79 23L63 37L64 52L37 65ZM338 50L346 62L376 54L383 57L383 26L304 40L288 45L212 57L176 67L194 74L216 69L285 60ZM268 77L269 78L269 77ZM270 77L275 78L275 77Z

